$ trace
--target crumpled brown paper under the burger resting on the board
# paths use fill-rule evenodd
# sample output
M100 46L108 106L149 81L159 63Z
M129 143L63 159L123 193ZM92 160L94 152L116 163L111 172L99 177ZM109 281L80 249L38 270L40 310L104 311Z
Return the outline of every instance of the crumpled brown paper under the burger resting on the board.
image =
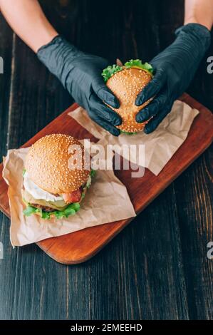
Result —
M23 185L22 171L28 148L9 150L4 158L3 177L9 185L9 205L11 210L11 244L21 246L76 232L86 227L107 222L128 219L135 216L135 210L126 187L115 177L112 161L110 170L98 170L88 189L80 210L76 215L61 220L43 220L38 215L25 217L21 201Z

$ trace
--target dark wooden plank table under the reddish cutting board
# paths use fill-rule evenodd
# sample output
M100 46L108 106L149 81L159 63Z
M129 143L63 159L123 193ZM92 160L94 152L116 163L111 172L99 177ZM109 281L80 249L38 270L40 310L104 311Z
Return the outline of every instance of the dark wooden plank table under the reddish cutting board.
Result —
M101 4L100 4L101 3ZM182 24L184 1L41 1L79 48L150 60ZM1 14L0 14L1 15ZM213 55L213 43L207 56ZM18 148L72 98L0 16L0 153ZM213 110L207 56L188 93ZM57 264L35 244L12 249L0 213L0 319L212 319L212 158L207 150L89 262Z

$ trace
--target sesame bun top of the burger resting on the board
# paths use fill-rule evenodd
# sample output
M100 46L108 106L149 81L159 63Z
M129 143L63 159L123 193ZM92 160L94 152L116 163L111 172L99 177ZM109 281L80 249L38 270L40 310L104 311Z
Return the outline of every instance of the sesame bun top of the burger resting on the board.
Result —
M76 138L63 134L46 135L31 146L25 168L41 189L53 194L73 192L90 175L89 168L84 169L83 158L83 145Z

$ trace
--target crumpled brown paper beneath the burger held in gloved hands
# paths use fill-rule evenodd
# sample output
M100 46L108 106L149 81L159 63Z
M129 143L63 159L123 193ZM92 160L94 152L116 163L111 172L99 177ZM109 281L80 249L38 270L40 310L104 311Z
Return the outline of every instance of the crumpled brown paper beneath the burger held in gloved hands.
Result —
M89 133L99 139L99 145L106 146L110 143L122 147L122 145L126 144L139 145L143 143L145 145L145 168L148 168L155 175L160 173L170 158L172 158L172 155L180 148L180 145L184 143L192 122L198 114L198 110L177 100L171 112L153 133L149 135L143 132L136 135L121 134L117 138L94 123L83 108L77 108L69 113ZM137 153L139 153L139 150L137 150ZM125 155L125 152L121 152L121 155L127 160L132 161L132 163L141 165L141 159L138 155L129 157Z

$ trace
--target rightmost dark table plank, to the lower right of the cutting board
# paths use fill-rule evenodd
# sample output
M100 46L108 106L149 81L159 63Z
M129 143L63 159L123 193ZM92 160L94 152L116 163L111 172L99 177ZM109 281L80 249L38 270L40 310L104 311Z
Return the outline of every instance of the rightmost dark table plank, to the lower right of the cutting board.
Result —
M175 182L189 319L212 319L213 145Z

